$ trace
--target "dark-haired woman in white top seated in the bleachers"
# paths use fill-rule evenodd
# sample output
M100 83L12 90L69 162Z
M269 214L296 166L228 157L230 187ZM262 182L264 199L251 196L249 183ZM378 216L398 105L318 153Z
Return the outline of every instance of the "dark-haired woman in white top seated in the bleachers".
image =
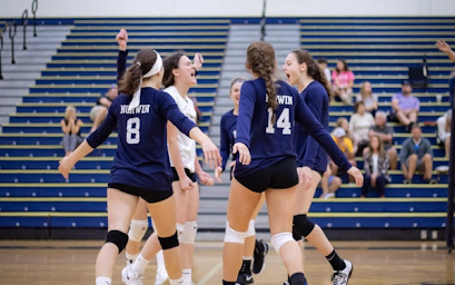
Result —
M350 116L349 120L349 132L354 137L354 153L356 156L362 156L364 148L368 146L368 132L375 125L375 119L372 114L366 111L363 101L356 102L354 111L355 114Z

